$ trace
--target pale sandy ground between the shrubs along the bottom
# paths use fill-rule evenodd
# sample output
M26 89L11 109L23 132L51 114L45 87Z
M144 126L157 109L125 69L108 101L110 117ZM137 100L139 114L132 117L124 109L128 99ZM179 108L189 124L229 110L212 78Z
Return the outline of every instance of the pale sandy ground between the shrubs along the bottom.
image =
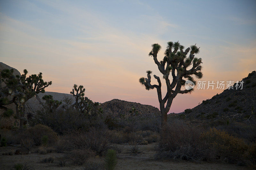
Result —
M247 169L246 167L236 166L233 164L216 164L216 163L193 163L189 161L158 161L154 159L156 144L139 145L141 153L132 154L129 152L129 145L123 144L123 152L117 154L116 169ZM27 163L34 169L83 169L84 166L72 166L70 161L64 167L58 166L58 161L65 157L65 153L33 153L36 147L32 149L32 153L26 155L2 155L5 152L15 152L20 146L0 147L0 169L12 169L16 163ZM40 163L41 159L53 156L53 163ZM97 162L104 164L104 157L96 157L89 159L88 162Z

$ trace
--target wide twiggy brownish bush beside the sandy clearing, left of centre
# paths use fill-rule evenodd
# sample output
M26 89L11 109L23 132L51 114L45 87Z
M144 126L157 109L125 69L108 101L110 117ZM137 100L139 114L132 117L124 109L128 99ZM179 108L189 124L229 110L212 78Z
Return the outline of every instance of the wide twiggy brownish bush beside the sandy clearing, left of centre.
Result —
M107 130L90 129L88 132L71 131L62 138L67 143L65 149L90 149L97 155L102 155L109 147L111 134Z

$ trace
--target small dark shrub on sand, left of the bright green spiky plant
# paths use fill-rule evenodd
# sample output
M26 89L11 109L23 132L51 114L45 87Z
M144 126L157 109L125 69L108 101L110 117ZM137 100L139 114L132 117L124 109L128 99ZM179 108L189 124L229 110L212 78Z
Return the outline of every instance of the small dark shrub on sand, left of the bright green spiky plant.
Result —
M84 165L88 158L93 157L94 155L95 153L88 149L75 149L71 151L69 158L74 165Z

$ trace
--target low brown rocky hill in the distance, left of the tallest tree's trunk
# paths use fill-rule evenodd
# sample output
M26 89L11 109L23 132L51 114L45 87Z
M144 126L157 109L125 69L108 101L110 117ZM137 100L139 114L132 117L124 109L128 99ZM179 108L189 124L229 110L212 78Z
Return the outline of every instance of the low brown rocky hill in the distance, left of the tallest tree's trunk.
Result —
M158 117L161 115L161 112L156 107L119 99L113 99L102 103L100 107L104 110L105 113L113 115L115 117L132 116L132 114L130 113L132 107L135 108L134 116L136 116L137 118L147 119L156 116Z

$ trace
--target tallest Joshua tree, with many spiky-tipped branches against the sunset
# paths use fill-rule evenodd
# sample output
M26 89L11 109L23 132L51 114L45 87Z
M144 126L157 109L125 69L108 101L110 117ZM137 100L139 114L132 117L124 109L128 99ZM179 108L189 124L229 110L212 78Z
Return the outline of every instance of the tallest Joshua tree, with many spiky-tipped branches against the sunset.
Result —
M154 88L157 90L160 111L162 114L161 129L163 129L163 127L166 125L167 113L169 112L172 105L172 100L176 97L176 95L178 93L185 94L194 91L193 88L188 90L180 90L181 87L185 85L186 80L190 80L196 85L196 80L194 80L192 76L195 75L195 77L199 79L203 77L203 73L201 72L202 66L200 65L200 63L202 63L202 59L198 59L194 55L199 53L199 48L197 48L195 44L183 51L184 46L180 45L179 41L174 43L170 41L167 43L164 59L159 62L157 59L157 53L161 49L161 46L159 44L152 45L152 50L148 55L153 56L158 70L163 74L163 78L167 86L167 92L164 98L162 98L161 80L156 75L154 75L154 78L156 78L158 85L151 85L152 71L150 70L147 71L148 78L142 77L139 79L139 82L141 85L145 86L146 90L151 90ZM190 54L187 57L186 55L189 51ZM172 75L172 82L170 82L169 79L170 73Z

